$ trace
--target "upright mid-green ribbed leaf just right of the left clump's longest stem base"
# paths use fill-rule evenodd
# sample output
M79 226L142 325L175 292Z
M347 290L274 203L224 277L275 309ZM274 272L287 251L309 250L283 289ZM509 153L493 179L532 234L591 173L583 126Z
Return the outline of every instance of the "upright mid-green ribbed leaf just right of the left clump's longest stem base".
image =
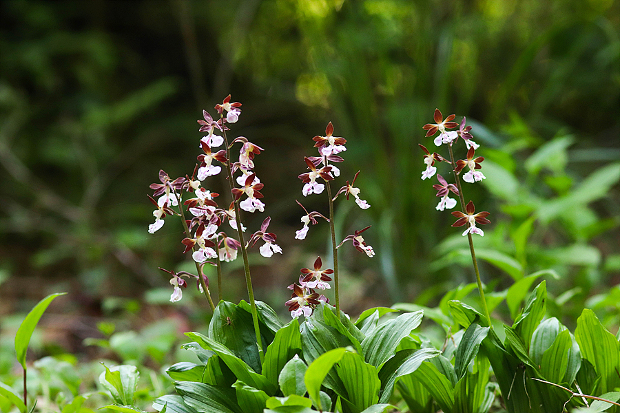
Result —
M299 322L293 319L276 332L276 337L267 347L265 362L262 363L262 375L267 377L273 385L277 385L280 371L295 354L301 354L301 348Z

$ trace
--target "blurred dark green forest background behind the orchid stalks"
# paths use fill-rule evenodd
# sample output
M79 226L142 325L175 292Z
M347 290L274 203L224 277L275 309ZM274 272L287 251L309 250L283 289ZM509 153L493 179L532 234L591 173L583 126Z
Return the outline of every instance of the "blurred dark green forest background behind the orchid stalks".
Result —
M267 208L245 222L252 233L271 216L284 254L267 260L255 248L250 260L256 297L283 317L299 268L317 255L331 262L326 224L293 240L296 199L327 215L323 196L302 199L297 176L330 120L347 139L334 186L361 170L372 205L337 202L340 239L372 225L364 238L377 253L342 248L343 309L434 306L474 282L462 230L435 211L435 182L420 180L418 143L435 148L422 125L437 107L467 117L486 158L487 179L465 184L491 213L475 238L484 282L501 297L551 268L553 315L572 328L589 306L617 331L620 1L30 0L1 1L0 19L3 342L59 291L70 295L46 317L65 349L101 335L103 319L119 330L205 322L189 288L168 301L157 268L192 262L178 221L147 233L147 194L159 169L192 173L196 119L227 94L243 104L231 134L265 148L256 171ZM247 299L240 261L224 277L225 299Z

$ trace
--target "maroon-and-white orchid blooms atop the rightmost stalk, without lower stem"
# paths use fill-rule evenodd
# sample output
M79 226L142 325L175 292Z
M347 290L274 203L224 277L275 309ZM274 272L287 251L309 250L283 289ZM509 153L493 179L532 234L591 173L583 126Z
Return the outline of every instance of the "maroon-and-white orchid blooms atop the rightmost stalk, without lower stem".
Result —
M422 180L425 180L426 178L430 179L435 176L435 173L437 172L435 162L447 162L452 165L457 179L457 185L448 184L444 177L437 173L437 180L439 181L439 184L433 185L433 188L437 191L437 196L441 197L440 202L437 204L437 207L435 207L437 211L444 211L446 208L453 209L456 206L457 201L448 197L451 192L459 196L461 198L461 202L464 203L462 193L459 193L459 176L465 167L469 168L469 171L463 174L463 180L465 182L473 184L474 182L479 182L486 179L482 172L479 171L479 169L482 168L482 165L480 164L484 158L482 156L475 157L475 151L480 147L480 145L473 141L473 136L470 133L471 126L465 126L465 118L463 118L460 125L453 122L455 117L455 115L450 115L444 119L442 112L440 112L439 109L435 109L435 123L427 123L424 127L422 127L422 129L426 130L426 138L435 135L437 132L440 133L433 140L433 142L438 147L442 144L448 145L452 162L437 152L431 153L428 149L426 149L426 147L424 147L424 145L418 144L424 151L424 164L426 165L426 169L422 172ZM457 131L447 130L454 129L456 127L459 128ZM459 137L463 138L465 142L468 149L467 155L465 159L454 161L452 155L452 145L457 142ZM484 236L484 232L482 229L479 229L476 224L488 224L490 221L487 220L486 217L489 213L486 211L475 213L475 207L471 201L468 202L464 209L466 213L463 213L462 211L454 211L452 213L452 215L458 218L452 226L463 226L467 224L467 229L464 231L463 236L468 234L479 234L480 236Z

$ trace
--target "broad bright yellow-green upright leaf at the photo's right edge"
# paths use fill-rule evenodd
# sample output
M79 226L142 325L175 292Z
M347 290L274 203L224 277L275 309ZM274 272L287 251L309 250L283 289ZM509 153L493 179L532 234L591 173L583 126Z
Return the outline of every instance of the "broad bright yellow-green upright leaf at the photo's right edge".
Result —
M575 339L581 349L581 357L590 361L601 377L598 393L606 393L620 387L620 344L608 332L595 313L588 308L577 319Z

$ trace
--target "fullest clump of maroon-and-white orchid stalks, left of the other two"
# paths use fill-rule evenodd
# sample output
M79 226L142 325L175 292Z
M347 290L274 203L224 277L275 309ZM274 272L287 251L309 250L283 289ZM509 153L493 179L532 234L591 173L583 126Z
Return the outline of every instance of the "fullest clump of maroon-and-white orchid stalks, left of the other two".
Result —
M269 218L267 218L260 231L256 231L250 238L249 242L245 242L243 232L245 226L241 222L241 210L247 212L265 211L265 204L260 200L262 194L260 189L264 184L260 182L254 172L254 157L263 149L258 145L249 142L247 138L239 136L229 143L227 124L236 123L241 110L241 103L231 102L231 96L227 96L222 103L216 105L220 118L214 120L207 111L203 111L203 119L198 120L201 132L207 132L207 136L200 139L200 149L203 153L198 156L198 165L194 168L194 174L190 178L177 178L171 180L163 171L160 172L161 184L152 184L154 196L160 196L158 200L151 198L157 209L153 215L155 222L149 225L149 233L154 233L163 226L163 218L166 215L179 215L182 218L183 228L185 229L185 253L192 251L192 259L196 262L196 271L198 275L190 273L174 273L174 271L166 271L172 275L170 284L174 287L170 301L179 301L183 297L181 288L187 287L184 278L195 277L198 280L198 290L205 293L211 310L214 310L213 301L209 294L209 280L203 273L203 266L211 264L218 268L218 293L220 298L223 295L222 286L222 262L235 260L238 251L241 251L243 266L245 269L245 279L247 291L251 306L252 320L254 321L254 332L256 333L256 343L258 346L258 354L260 360L264 359L264 351L262 341L260 339L260 328L258 324L258 311L256 309L256 300L254 299L254 289L252 288L251 274L249 268L249 260L247 256L247 248L254 246L258 240L265 241L260 246L260 254L265 257L271 257L273 253L282 253L282 248L276 244L276 234L267 232L269 226ZM221 132L219 136L215 132ZM241 144L239 158L236 162L231 160L231 148L236 143ZM215 148L225 145L224 149L217 150ZM228 209L218 207L214 198L218 197L217 193L203 187L202 181L209 176L216 176L222 171L219 162L226 169L229 191L231 194L231 204ZM233 179L234 173L240 171L241 174ZM236 182L239 187L236 187ZM194 198L188 200L181 199L180 193L187 191L194 193ZM192 213L190 220L185 219L185 211L182 205L187 206L187 211ZM174 211L171 207L178 206L178 211ZM230 226L236 230L236 237L228 236L225 231L220 231L223 222L228 221ZM216 262L207 260L215 259Z

